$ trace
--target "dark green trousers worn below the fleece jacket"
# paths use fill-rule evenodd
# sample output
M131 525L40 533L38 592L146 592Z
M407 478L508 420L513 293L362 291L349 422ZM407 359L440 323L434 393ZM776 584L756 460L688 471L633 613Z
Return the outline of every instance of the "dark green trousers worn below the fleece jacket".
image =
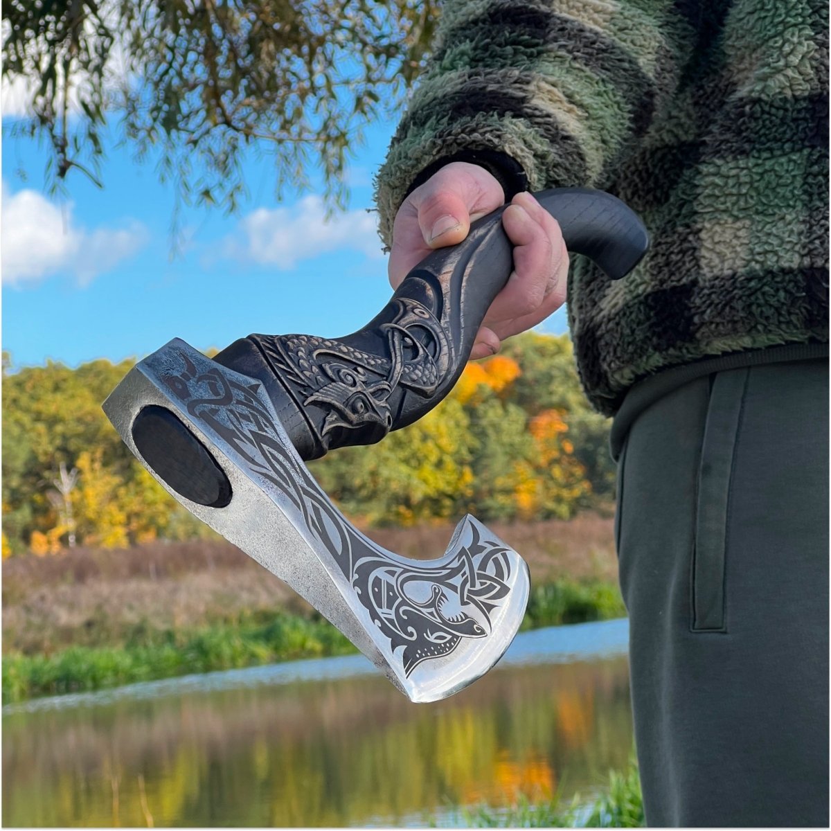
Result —
M828 363L644 401L612 445L647 823L827 826Z

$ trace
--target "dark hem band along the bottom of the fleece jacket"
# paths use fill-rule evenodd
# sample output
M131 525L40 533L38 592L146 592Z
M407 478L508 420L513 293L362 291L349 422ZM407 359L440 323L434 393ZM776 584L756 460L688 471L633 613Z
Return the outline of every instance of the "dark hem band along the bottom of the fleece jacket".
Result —
M812 361L818 358L828 359L828 343L787 343L779 347L750 350L748 352L732 352L730 355L720 355L705 358L684 366L675 366L657 375L645 378L632 386L626 398L612 421L612 432L609 435L609 446L612 450L612 459L617 461L626 439L627 432L637 416L647 409L654 401L668 395L679 386L713 372L723 372L730 369L740 369L743 366L762 366L772 363L789 361Z

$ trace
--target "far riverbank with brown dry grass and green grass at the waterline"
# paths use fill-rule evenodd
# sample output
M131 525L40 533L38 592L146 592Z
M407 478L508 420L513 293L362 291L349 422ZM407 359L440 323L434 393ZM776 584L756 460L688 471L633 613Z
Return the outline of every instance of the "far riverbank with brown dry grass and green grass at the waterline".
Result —
M371 536L407 557L444 550L449 526ZM612 519L494 524L529 563L523 627L625 614ZM3 563L2 701L353 652L340 632L224 540L75 549Z

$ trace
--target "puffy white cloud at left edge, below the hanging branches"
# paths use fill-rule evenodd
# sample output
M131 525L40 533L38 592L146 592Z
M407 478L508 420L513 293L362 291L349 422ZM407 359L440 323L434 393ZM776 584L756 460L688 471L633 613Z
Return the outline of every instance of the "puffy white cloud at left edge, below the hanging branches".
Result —
M0 266L7 285L35 283L56 273L71 273L86 285L131 257L146 239L145 227L135 221L122 228L76 228L71 205L61 210L35 190L10 194L3 186Z

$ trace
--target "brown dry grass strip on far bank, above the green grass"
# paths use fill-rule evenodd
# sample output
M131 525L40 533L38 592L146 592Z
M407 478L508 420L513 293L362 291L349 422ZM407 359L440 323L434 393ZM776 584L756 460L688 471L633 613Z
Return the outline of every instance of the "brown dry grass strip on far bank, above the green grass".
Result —
M612 519L492 524L523 554L535 584L558 578L613 581ZM372 529L371 538L412 558L444 552L453 527ZM284 583L224 541L154 543L126 551L78 548L2 563L4 652L49 654L69 645L153 640L160 633L238 621L276 607L308 607Z

